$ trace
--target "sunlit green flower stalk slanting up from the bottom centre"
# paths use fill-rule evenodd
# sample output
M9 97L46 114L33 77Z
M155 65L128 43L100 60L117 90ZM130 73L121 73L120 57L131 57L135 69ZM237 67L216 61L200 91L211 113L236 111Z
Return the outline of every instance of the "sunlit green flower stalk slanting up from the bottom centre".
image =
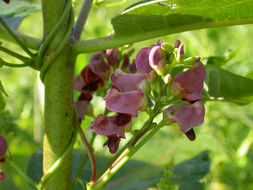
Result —
M152 130L136 145L128 147L116 160L106 175L98 179L95 186L102 187L144 144L146 144L156 132L168 123L168 118L164 118L158 125L153 126Z

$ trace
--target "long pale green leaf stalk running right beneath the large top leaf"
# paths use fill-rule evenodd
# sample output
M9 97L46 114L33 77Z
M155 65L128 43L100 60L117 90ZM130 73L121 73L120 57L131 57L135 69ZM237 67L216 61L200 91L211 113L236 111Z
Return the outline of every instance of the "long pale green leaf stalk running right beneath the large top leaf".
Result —
M74 43L73 51L77 54L102 51L105 49L117 48L119 46L132 44L135 42L144 41L151 38L175 34L184 31L197 30L203 28L224 27L233 25L252 24L253 18L237 19L237 20L223 20L210 22L196 22L188 25L165 28L162 30L138 33L136 35L117 35L107 36L97 39L85 40Z

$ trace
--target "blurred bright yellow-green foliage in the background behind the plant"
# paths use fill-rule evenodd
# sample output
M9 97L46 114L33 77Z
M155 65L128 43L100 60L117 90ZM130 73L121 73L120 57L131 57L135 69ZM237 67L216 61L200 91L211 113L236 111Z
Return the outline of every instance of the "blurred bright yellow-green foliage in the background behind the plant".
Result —
M39 3L39 1L32 1ZM74 3L77 13L81 6L80 0ZM135 1L128 1L119 7L105 4L105 7L94 7L91 10L82 40L103 37L112 32L110 18L119 14L124 8ZM31 13L25 18L19 32L41 38L43 33L41 12ZM180 39L185 44L186 56L199 55L205 58L212 55L223 55L229 50L241 48L239 53L231 60L225 69L233 73L246 76L253 71L253 25L234 26L217 29L205 29L180 34L173 34L157 39L147 40L134 44L136 51L142 47L154 44L158 39L174 44ZM17 46L4 42L4 46L22 53ZM81 54L77 59L76 74L88 63L91 54ZM0 57L10 62L17 60L0 52ZM30 68L1 68L0 80L2 81L9 97L5 98L6 108L1 111L0 128L8 126L5 131L8 149L13 161L23 170L28 170L29 158L39 152L43 134L43 85L38 73ZM253 88L253 87L252 87ZM102 98L94 98L92 101L95 114L98 115L104 109ZM134 119L134 127L143 124L147 116L140 113ZM92 118L86 117L83 127L87 128ZM210 172L203 179L205 189L238 190L253 189L253 104L238 106L228 102L207 102L205 123L195 128L196 140L190 142L176 124L165 127L139 151L133 160L147 165L136 165L129 171L122 168L122 174L111 181L107 189L117 189L118 183L131 180L135 176L154 171L166 163L180 163L192 158L204 150L209 150L211 159ZM89 133L87 134L90 135ZM90 138L90 137L89 137ZM102 160L112 157L107 148L102 145L106 138L95 139L95 151ZM122 140L121 144L124 144ZM85 154L80 139L75 148ZM81 162L82 156L76 158ZM77 161L77 162L78 162ZM37 165L36 165L37 166ZM27 190L30 186L6 164L0 168L5 172L6 179L0 181L0 189ZM160 170L159 170L160 171ZM88 174L87 174L88 175ZM145 175L144 175L145 176ZM124 182L127 183L127 182ZM120 189L131 189L120 188ZM134 189L134 188L133 188ZM136 188L138 189L138 188Z

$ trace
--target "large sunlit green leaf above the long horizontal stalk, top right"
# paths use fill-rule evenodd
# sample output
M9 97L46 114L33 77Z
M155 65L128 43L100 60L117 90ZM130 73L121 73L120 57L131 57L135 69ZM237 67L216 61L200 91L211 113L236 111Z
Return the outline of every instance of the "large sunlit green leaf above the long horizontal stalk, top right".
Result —
M188 30L249 23L253 23L252 0L144 1L112 19L115 38L129 43Z

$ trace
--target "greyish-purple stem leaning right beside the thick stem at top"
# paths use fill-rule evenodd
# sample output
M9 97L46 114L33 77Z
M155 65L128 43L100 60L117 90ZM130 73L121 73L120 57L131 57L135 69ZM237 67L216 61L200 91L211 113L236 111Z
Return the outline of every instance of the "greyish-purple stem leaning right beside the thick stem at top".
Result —
M78 15L77 21L74 26L72 37L75 41L79 41L84 25L88 18L93 0L84 0L80 13Z

